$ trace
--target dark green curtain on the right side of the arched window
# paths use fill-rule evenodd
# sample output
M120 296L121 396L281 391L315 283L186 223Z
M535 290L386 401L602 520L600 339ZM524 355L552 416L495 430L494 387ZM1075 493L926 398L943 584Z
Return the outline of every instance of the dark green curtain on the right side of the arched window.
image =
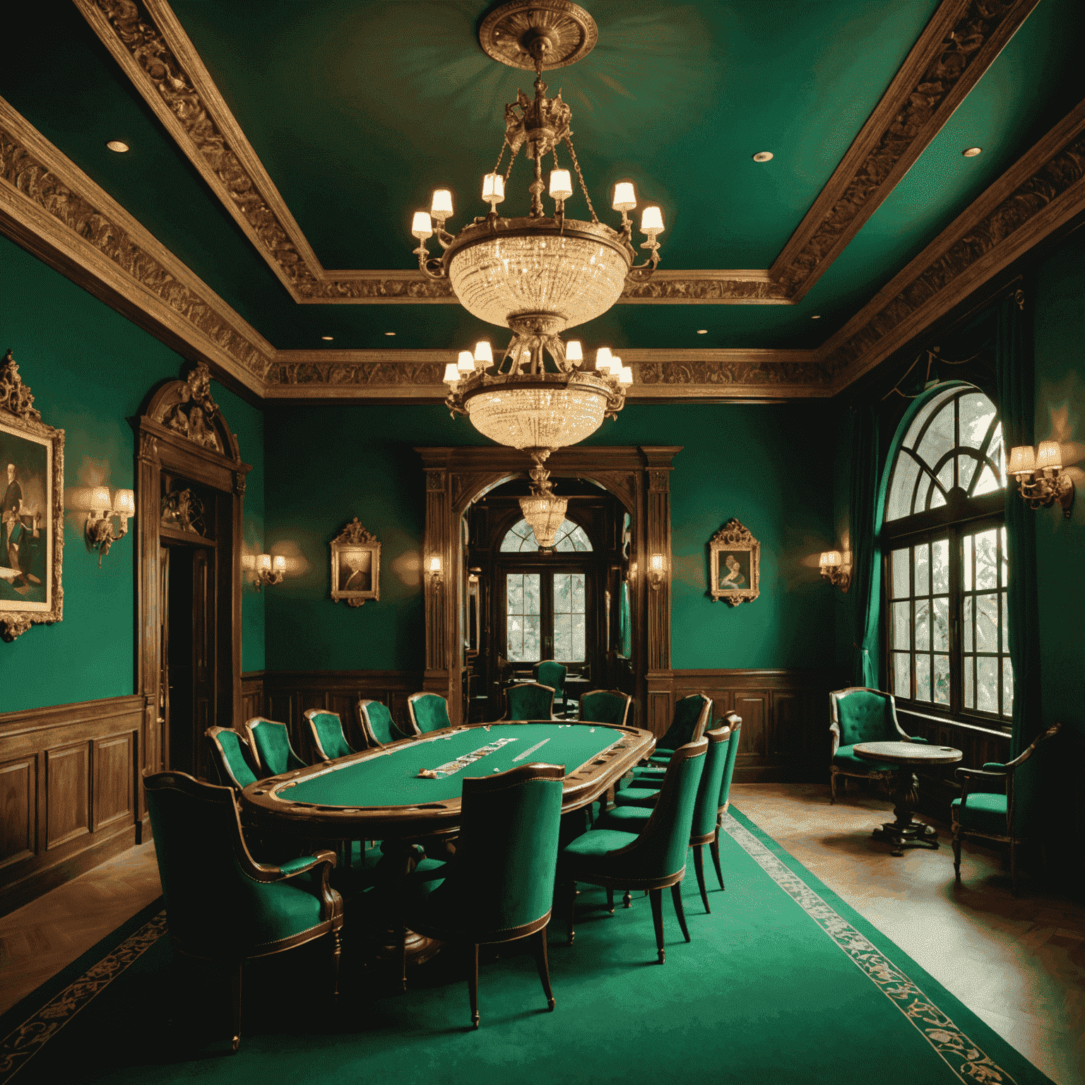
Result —
M1032 445L1035 423L1035 376L1032 329L1024 293L1017 291L998 308L995 380L1003 419L1006 458L1014 445ZM1039 711L1039 610L1036 602L1035 513L1021 500L1018 485L1006 487L1006 535L1009 549L1009 649L1013 664L1013 754L1042 729Z

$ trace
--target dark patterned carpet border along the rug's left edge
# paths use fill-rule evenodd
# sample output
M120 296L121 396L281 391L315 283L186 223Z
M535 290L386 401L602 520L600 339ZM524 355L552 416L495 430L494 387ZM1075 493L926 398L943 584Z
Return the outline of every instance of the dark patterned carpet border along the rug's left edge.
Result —
M162 907L161 899L153 907ZM140 917L136 917L137 920ZM100 995L118 975L130 968L166 933L166 912L159 910L135 933L91 965L89 969L64 986L26 1017L0 1039L0 1085L7 1085L52 1039L76 1013ZM97 948L97 947L95 947ZM94 949L90 950L94 953ZM85 954L84 957L87 955ZM76 962L82 962L80 958ZM39 988L41 991L42 988ZM37 1000L38 993L23 1000ZM20 1007L15 1007L17 1012ZM10 1014L4 1014L10 1017Z

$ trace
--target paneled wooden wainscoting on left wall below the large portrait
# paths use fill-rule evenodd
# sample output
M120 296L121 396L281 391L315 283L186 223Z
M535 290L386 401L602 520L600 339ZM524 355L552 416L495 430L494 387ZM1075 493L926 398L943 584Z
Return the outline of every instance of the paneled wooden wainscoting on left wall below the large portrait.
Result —
M142 697L0 714L0 916L137 842Z

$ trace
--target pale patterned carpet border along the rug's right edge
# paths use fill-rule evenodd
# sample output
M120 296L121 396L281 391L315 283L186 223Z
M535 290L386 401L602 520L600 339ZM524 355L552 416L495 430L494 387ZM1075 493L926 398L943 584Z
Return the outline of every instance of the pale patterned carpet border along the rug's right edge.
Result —
M869 939L861 934L749 829L725 814L731 839L806 912L852 962L889 998L927 1039L946 1065L968 1085L1016 1085L1016 1080L939 1009Z

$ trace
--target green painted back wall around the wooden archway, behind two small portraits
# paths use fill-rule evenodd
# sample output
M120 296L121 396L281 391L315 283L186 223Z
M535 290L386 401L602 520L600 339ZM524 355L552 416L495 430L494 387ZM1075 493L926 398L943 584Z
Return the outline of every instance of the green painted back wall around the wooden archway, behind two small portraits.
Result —
M420 668L424 527L421 445L484 445L443 407L273 408L267 433L267 541L302 567L267 591L269 669ZM810 464L831 462L815 404L628 406L586 444L681 445L671 482L676 668L831 663L834 603L817 572L832 495ZM802 455L796 456L795 450ZM329 598L328 542L358 516L383 544L381 600ZM762 544L762 596L706 596L712 535L737 516Z

